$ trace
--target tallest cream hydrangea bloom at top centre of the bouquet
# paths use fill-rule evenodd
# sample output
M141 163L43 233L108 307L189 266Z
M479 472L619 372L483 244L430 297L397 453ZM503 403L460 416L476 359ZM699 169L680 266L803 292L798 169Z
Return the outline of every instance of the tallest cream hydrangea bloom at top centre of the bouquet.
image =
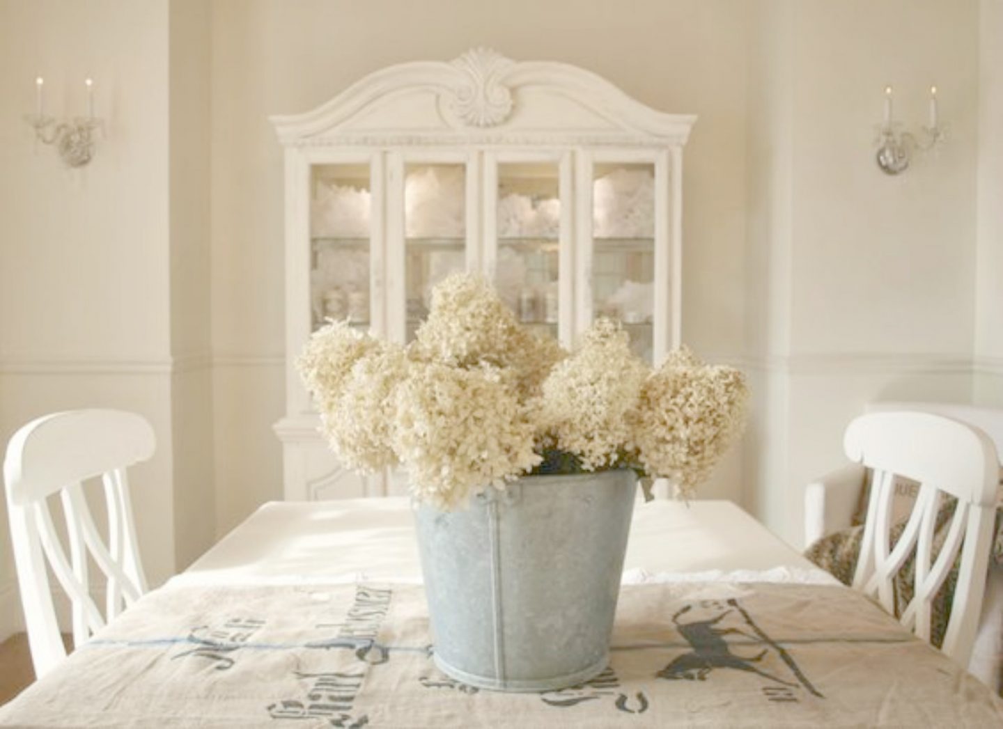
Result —
M415 333L411 354L455 367L493 365L513 379L524 398L539 394L551 368L566 356L553 339L520 326L483 277L461 273L432 290L428 318Z

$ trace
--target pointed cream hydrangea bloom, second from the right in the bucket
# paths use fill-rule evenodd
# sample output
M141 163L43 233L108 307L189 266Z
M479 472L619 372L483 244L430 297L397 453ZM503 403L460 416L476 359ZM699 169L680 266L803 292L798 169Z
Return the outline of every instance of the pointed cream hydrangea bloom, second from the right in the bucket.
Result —
M544 381L538 419L543 441L578 456L586 470L614 465L632 440L627 416L648 372L620 324L597 320Z

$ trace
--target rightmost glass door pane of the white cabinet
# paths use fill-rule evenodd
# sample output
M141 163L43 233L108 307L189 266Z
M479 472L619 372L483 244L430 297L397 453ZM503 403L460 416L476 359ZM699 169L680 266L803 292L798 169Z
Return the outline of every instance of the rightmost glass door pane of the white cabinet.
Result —
M619 319L651 361L655 276L655 166L601 163L593 171L593 312Z

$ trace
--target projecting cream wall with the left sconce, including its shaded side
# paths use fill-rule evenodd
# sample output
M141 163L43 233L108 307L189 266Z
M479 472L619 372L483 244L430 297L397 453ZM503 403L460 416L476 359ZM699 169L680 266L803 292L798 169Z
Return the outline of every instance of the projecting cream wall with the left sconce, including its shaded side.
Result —
M215 536L208 30L198 0L0 0L0 442L54 410L148 418L156 453L132 481L153 584ZM60 116L84 113L93 77L87 166L23 120L38 75ZM0 638L20 621L0 505Z

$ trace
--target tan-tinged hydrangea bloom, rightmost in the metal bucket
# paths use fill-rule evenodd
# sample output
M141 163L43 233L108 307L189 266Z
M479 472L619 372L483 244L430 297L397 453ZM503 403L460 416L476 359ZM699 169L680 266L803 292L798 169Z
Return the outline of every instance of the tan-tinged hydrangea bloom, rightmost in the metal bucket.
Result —
M741 434L747 407L741 372L705 365L686 347L676 350L648 377L631 415L638 458L689 498Z

